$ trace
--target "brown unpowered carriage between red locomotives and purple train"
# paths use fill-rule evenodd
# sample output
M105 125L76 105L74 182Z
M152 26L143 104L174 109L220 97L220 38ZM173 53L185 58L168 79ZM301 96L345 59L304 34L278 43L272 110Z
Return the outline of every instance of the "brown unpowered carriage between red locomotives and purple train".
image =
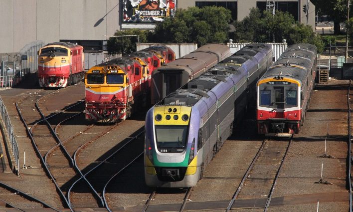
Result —
M161 101L228 56L230 56L230 48L227 45L208 43L158 68L152 73L151 104Z

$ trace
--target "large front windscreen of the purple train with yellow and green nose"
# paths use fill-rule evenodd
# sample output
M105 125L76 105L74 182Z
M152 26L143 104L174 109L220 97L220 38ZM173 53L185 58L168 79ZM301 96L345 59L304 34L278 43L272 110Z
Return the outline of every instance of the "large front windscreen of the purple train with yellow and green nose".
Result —
M160 152L182 152L186 147L187 125L156 125L156 141Z

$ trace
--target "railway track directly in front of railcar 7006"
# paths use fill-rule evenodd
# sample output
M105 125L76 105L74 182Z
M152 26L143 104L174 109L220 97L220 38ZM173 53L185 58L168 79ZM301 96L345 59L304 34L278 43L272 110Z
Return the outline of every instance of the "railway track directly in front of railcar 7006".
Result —
M242 178L226 211L234 206L234 201L243 195L266 197L264 212L270 206L279 173L291 146L293 136L288 142L263 140L262 145Z

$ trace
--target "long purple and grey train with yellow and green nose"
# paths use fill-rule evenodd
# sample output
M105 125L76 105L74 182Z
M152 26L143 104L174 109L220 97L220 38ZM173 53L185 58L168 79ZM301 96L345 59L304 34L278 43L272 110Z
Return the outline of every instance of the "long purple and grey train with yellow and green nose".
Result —
M271 45L248 44L152 107L145 124L146 184L195 186L272 61Z

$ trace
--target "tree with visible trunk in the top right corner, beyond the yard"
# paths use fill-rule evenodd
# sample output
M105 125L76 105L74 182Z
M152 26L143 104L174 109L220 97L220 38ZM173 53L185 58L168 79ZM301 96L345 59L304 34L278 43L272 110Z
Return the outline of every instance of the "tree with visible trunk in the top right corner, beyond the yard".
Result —
M316 10L320 9L322 14L333 19L334 33L340 34L340 22L347 20L347 0L311 0L311 2L315 4Z

